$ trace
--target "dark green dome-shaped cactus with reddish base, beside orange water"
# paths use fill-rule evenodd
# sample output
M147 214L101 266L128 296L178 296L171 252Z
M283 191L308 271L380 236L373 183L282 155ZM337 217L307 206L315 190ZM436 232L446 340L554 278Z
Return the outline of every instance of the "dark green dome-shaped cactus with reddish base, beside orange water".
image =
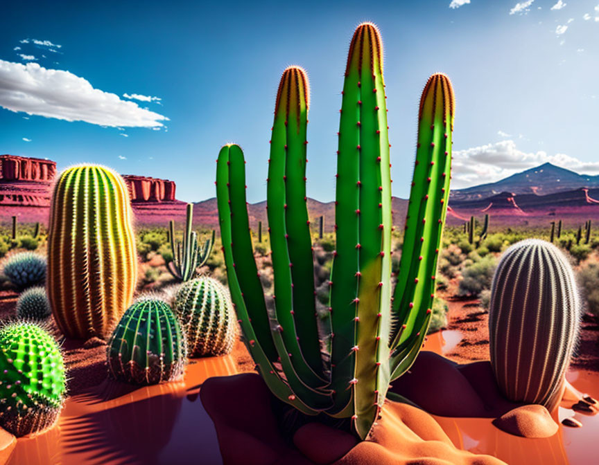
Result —
M183 376L186 343L171 307L153 298L138 300L125 311L107 347L114 379L157 384Z

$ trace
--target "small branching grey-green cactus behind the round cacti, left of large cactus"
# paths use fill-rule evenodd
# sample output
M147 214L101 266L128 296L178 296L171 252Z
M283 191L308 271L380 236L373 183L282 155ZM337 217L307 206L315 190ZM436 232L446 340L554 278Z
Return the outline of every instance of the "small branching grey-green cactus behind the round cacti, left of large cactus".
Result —
M214 246L215 231L212 231L212 237L205 241L204 246L198 244L198 233L192 229L193 205L187 204L187 217L183 241L175 241L175 222L171 220L168 234L171 240L171 250L173 250L173 261L168 262L168 271L178 280L189 281L196 273L199 266L204 266L210 257L212 247ZM176 244L176 245L175 245Z

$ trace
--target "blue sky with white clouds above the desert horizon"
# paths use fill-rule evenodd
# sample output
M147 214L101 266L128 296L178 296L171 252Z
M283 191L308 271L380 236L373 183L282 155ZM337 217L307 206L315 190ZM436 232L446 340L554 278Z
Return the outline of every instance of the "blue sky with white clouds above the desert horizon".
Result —
M419 95L435 71L457 98L454 188L546 161L599 174L599 0L219 3L3 6L0 153L172 179L177 198L199 201L214 197L218 150L235 142L248 200L260 201L278 80L299 64L311 81L309 196L331 200L347 47L374 21L394 195L409 193Z

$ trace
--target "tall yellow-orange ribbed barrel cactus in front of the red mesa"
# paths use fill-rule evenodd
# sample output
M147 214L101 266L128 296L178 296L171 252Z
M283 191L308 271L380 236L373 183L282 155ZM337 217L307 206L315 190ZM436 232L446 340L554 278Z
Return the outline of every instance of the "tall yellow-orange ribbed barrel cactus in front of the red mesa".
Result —
M60 331L69 338L107 338L136 284L125 182L97 165L65 170L52 197L46 283Z

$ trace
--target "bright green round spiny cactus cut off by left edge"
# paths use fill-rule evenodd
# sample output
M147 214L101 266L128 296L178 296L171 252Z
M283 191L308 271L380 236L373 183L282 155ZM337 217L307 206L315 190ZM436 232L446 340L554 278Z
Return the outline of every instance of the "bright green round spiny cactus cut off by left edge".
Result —
M40 325L10 323L0 329L0 425L15 436L51 426L64 401L64 361Z

